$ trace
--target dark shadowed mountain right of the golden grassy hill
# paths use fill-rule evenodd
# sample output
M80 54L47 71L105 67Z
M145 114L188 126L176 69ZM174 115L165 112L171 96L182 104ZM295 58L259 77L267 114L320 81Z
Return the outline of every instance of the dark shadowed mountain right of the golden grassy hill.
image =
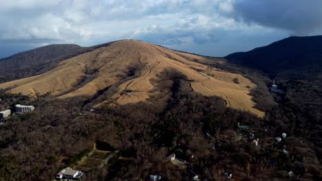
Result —
M260 69L272 77L312 78L321 75L322 36L292 36L225 58L235 64Z

